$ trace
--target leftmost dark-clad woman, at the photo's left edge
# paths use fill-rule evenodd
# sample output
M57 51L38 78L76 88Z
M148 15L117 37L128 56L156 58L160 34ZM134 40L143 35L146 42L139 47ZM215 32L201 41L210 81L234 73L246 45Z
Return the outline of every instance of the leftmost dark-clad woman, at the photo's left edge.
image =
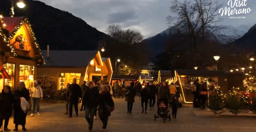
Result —
M5 131L11 131L8 129L8 123L11 117L13 103L14 96L11 94L11 87L6 85L4 86L2 93L0 93L0 127L3 125L3 120L5 120Z

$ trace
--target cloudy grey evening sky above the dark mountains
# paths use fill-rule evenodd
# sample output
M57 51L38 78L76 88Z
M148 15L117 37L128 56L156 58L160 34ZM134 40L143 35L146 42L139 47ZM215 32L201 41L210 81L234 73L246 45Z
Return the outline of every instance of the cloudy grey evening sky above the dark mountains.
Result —
M140 31L144 38L154 36L168 28L166 16L171 15L172 0L39 0L47 5L68 11L82 18L97 30L106 33L110 24L119 24L123 29ZM228 7L228 0L219 0ZM234 1L234 0L233 0ZM241 0L242 1L242 0ZM251 27L256 23L256 0L247 0L246 8L252 11L245 19L229 19L223 16L222 25ZM240 8L240 7L239 7Z

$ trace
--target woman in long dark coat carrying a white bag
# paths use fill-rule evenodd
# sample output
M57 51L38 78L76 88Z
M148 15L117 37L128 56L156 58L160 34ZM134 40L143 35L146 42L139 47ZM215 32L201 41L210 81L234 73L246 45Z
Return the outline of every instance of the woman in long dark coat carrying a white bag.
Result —
M26 125L26 116L27 116L27 111L26 113L23 112L23 110L20 107L20 99L21 97L24 97L27 101L29 101L29 91L25 87L24 82L19 82L19 88L14 92L15 96L15 104L14 104L14 121L13 123L15 124L15 129L14 131L18 131L18 125L22 125L22 130L26 131L27 129L25 128Z

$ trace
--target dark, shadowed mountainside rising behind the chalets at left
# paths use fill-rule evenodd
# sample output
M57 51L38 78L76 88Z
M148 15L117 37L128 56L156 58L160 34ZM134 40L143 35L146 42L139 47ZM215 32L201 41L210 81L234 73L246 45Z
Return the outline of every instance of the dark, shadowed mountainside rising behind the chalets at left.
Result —
M14 16L26 16L32 24L40 48L46 50L96 50L100 40L108 35L88 25L67 11L46 5L40 1L24 0L26 7L14 8ZM10 0L0 0L0 14L10 16Z

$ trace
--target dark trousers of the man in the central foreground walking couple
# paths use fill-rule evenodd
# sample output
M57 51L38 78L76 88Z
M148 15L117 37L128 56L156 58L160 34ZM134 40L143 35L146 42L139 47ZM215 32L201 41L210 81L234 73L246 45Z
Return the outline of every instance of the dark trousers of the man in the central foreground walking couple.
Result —
M92 130L93 129L93 116L96 113L97 107L88 107L86 106L85 108L85 119L89 124L89 129Z

